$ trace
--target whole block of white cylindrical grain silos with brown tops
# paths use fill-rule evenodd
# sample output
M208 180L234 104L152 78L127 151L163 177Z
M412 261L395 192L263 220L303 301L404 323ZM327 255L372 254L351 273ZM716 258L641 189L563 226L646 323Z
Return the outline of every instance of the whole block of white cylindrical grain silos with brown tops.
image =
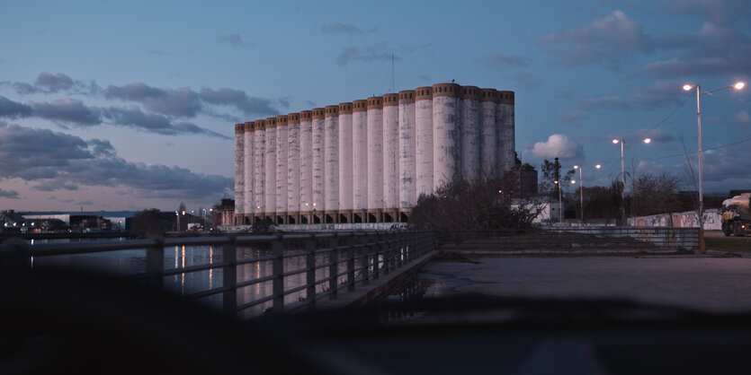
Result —
M235 224L405 222L514 168L514 92L438 83L235 125Z

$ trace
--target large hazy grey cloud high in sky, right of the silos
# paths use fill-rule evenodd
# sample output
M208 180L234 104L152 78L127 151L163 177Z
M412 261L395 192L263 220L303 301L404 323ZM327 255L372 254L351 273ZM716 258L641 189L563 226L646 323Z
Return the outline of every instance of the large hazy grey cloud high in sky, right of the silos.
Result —
M639 22L616 10L585 28L560 31L542 38L538 46L558 57L559 65L599 65L619 70L635 52L648 54L652 40Z

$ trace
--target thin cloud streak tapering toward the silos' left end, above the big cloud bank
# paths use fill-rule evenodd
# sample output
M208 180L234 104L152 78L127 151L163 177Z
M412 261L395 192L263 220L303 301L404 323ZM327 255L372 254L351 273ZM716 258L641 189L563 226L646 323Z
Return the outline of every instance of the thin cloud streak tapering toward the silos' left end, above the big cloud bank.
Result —
M122 109L110 107L103 109L103 117L118 125L130 126L139 130L145 130L159 135L210 135L228 139L209 129L196 126L192 123L174 123L170 118L156 113L144 112L138 108Z

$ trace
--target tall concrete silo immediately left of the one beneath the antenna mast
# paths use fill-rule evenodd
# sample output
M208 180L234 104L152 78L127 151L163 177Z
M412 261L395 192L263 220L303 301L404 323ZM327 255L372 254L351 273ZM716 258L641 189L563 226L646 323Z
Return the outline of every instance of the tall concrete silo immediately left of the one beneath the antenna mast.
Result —
M368 99L368 222L383 211L383 98Z

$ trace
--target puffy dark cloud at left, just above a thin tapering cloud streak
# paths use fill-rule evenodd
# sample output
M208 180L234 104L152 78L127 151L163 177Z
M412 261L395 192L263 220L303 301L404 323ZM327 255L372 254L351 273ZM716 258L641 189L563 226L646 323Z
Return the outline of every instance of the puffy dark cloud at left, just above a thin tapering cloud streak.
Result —
M198 93L188 88L159 89L146 83L128 83L125 86L109 85L104 95L110 99L138 102L148 110L169 116L194 118L201 110Z

